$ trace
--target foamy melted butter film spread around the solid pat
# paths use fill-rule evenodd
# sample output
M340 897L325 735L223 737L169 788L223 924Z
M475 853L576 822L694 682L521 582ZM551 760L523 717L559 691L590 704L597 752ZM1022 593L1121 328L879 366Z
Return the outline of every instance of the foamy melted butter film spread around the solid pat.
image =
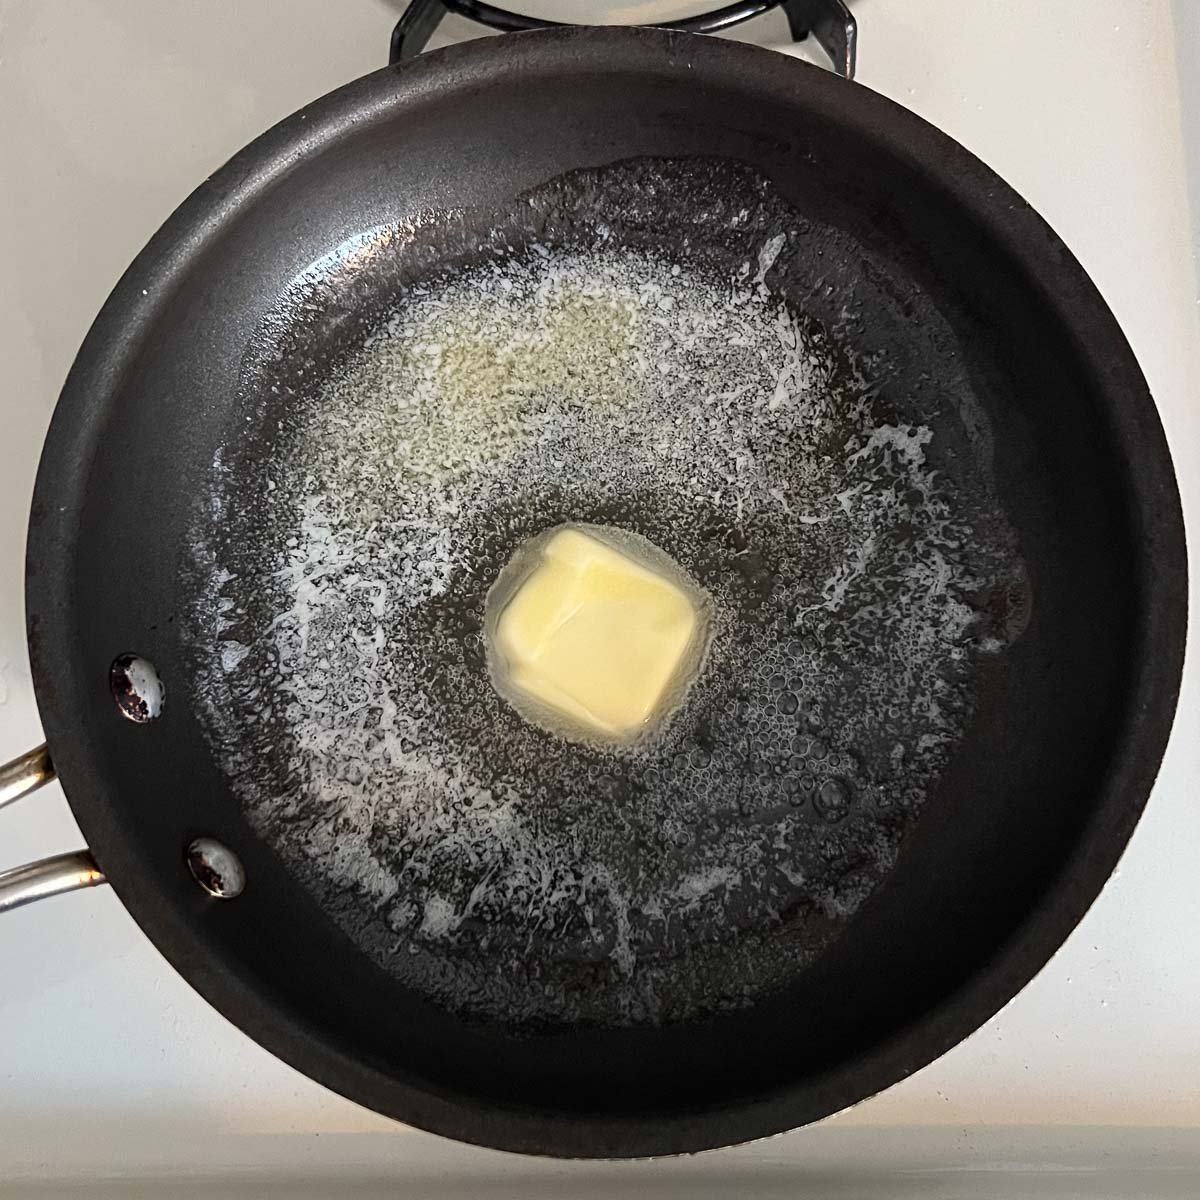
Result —
M196 698L406 985L510 1026L743 1007L889 871L1028 596L953 340L869 268L749 170L637 161L364 234L264 324ZM568 523L710 599L653 738L554 737L488 678L488 589Z

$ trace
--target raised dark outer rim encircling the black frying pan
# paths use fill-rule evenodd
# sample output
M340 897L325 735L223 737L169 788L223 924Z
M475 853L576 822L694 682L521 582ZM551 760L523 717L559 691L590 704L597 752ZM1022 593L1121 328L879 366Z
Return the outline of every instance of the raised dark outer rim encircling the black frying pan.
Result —
M702 1112L654 1117L570 1116L484 1109L469 1097L432 1094L343 1054L332 1039L220 964L205 962L188 924L155 906L137 887L138 853L126 844L102 791L89 786L95 755L68 698L76 670L55 629L70 619L68 562L84 504L86 464L104 394L150 328L152 302L188 269L205 241L263 190L278 186L300 162L353 122L384 121L414 103L458 89L536 71L658 73L672 78L787 92L869 136L917 170L936 178L1004 246L1022 272L1064 314L1080 353L1105 364L1104 406L1133 481L1135 528L1153 540L1138 610L1142 654L1132 680L1126 740L1114 751L1104 787L1058 877L1025 926L997 947L958 992L889 1042L780 1092ZM1103 359L1100 358L1103 355ZM1157 584L1157 586L1156 586ZM125 272L89 331L47 434L34 492L26 546L30 658L47 739L72 811L106 874L150 940L218 1012L284 1062L318 1082L409 1124L462 1141L560 1157L644 1157L748 1141L828 1116L926 1066L998 1012L1049 961L1099 894L1148 799L1166 749L1182 677L1187 571L1182 510L1157 410L1116 319L1061 239L990 168L916 114L860 84L757 47L661 30L556 29L485 38L385 67L300 109L251 142L200 185Z

